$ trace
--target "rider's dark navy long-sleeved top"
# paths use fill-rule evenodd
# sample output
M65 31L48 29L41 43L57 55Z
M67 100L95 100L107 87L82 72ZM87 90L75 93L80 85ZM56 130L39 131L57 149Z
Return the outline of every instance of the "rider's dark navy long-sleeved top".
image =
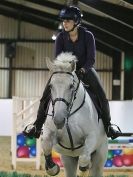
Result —
M72 52L78 59L77 68L84 68L86 72L95 63L95 39L90 31L83 27L78 27L78 39L73 42L69 33L64 30L57 35L55 41L55 56L61 52Z

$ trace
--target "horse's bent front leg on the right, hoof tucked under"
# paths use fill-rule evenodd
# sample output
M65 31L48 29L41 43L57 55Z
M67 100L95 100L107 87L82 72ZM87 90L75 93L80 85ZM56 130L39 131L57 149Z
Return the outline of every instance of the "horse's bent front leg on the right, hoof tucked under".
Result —
M91 155L96 149L97 139L95 133L86 137L83 153L79 156L79 167L81 171L91 168Z

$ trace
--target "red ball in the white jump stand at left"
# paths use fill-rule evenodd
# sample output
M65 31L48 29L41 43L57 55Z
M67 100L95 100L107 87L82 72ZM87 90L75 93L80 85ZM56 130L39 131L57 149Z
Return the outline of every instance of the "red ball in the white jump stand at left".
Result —
M29 148L27 146L20 146L17 149L17 157L18 158L29 158Z

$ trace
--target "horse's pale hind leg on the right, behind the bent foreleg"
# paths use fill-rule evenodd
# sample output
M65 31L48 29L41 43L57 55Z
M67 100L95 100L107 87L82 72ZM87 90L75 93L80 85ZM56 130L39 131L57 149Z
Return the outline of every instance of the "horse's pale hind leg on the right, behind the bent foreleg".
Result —
M92 167L90 169L90 176L103 176L103 169L105 161L107 159L107 152L107 144L102 144L102 146L92 155Z

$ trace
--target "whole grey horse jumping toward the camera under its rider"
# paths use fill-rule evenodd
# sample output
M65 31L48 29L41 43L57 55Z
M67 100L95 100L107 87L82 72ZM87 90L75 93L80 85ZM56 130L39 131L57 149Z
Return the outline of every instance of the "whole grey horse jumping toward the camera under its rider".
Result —
M101 177L108 139L90 96L75 74L76 57L61 53L53 62L47 59L47 66L52 72L52 101L43 128L44 155L52 149L61 155L65 177L77 177L78 168L82 176L89 172L92 177ZM58 172L58 165L47 169L51 176Z

